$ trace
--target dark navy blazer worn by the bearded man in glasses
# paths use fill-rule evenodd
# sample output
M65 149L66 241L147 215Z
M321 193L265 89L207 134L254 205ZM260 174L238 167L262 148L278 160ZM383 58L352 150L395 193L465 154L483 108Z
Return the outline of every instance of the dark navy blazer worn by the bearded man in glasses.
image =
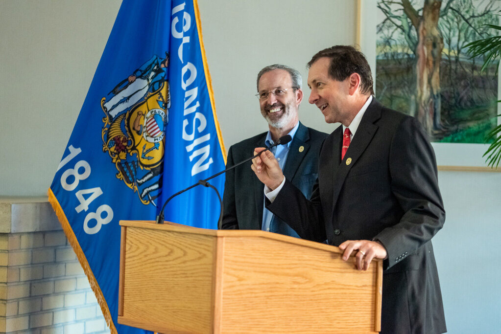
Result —
M229 148L226 166L253 155L256 147L266 147L267 132L240 141ZM301 122L294 135L284 167L284 174L306 196L317 179L318 155L327 133L306 127ZM301 148L303 147L303 148ZM252 169L251 161L226 172L223 193L223 229L261 229L263 222L264 184ZM274 216L270 231L298 237L284 221Z

